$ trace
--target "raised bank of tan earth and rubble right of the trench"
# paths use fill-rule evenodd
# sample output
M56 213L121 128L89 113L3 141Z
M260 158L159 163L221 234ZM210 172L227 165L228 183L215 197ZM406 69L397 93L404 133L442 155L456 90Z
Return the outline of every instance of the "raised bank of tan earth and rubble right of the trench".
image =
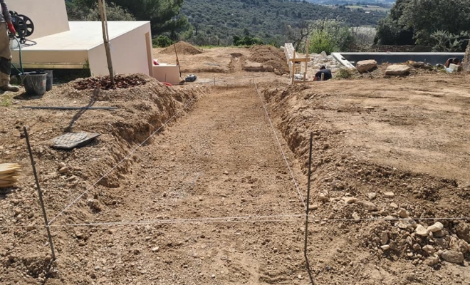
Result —
M379 87L387 84L386 79L375 79L380 82L373 88L368 86L370 80L357 80L341 86L334 82L283 87L269 83L270 87L263 90L273 121L304 163L304 172L313 131L315 194L310 201L315 209L312 214L326 221L323 227L320 222L318 232L328 232L328 239L335 244L322 249L334 252L332 258L322 257L331 268L349 264L351 267L345 271L355 274L355 262L360 260L364 266L360 270L367 271L374 264L382 272L392 266L403 272L402 279L409 279L414 273L429 271L429 266L459 270L452 264L464 264L470 258L469 224L455 218L468 217L470 207L468 165L454 154L454 149L467 152L467 142L454 133L454 118L447 118L447 108L467 105L468 100L460 95L463 86L444 95L445 89L439 83L423 87L432 74L422 76L427 78L395 79L399 84L386 89ZM461 80L440 76L456 86ZM409 108L410 100L426 104L430 115L424 117L422 110ZM414 132L433 132L433 136ZM441 143L448 137L453 145ZM439 153L439 159L429 161L429 152ZM449 168L442 170L442 165ZM312 237L311 242L318 244L322 240ZM355 259L350 259L352 256ZM310 258L315 258L314 254ZM414 273L409 271L410 266ZM317 278L329 280L336 276L325 272ZM424 280L432 278L426 276ZM456 280L452 276L442 284ZM374 281L339 283L392 284L380 278Z

